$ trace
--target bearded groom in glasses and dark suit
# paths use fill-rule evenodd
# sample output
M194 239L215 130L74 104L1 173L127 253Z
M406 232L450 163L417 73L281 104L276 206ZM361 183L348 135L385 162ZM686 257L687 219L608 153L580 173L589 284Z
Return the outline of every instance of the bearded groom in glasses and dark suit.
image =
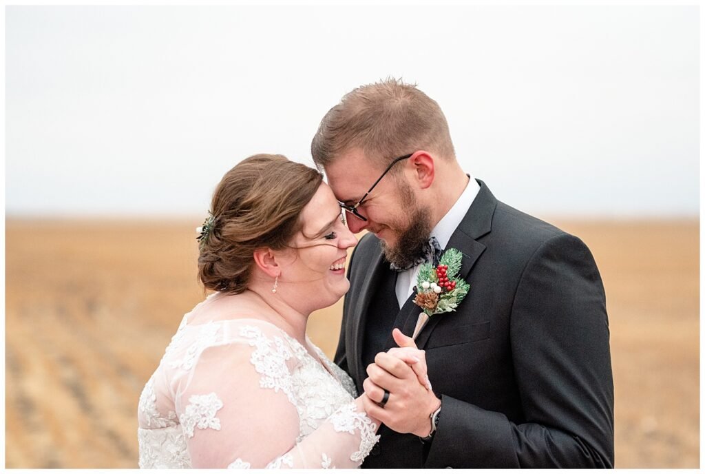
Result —
M311 148L350 230L369 231L335 357L380 405L363 467L613 467L605 293L584 243L465 174L439 105L398 80L345 95ZM419 263L449 248L470 290L415 339L431 391L384 352L412 344L393 329L412 335Z

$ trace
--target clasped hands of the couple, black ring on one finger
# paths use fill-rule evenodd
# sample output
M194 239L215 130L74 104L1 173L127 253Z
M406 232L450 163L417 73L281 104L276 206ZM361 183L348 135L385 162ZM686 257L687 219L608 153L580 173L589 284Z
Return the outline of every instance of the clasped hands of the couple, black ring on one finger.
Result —
M441 405L431 390L426 353L399 329L392 336L399 347L378 353L367 366L369 377L362 383L364 409L396 432L425 437L431 431L429 415ZM379 402L385 389L389 396L382 408Z

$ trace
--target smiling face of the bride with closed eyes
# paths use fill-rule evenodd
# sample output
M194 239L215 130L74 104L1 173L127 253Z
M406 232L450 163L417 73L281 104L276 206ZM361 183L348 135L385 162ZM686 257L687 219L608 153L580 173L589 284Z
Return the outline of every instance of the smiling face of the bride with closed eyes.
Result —
M295 250L291 258L283 259L279 287L295 293L307 310L326 308L350 288L345 260L357 239L343 222L341 207L326 183L304 207L301 219L302 231L291 243Z

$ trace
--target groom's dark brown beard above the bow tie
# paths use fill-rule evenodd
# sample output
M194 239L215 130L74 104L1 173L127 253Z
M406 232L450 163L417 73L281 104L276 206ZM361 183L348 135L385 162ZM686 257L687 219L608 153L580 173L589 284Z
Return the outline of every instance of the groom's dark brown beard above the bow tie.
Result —
M403 197L402 202L407 202L413 211L404 229L394 229L397 231L394 245L390 246L382 240L381 247L388 262L399 268L406 268L413 265L419 255L424 254L425 248L429 245L433 227L431 212L427 207L417 206L417 200L411 190L403 188L400 194Z

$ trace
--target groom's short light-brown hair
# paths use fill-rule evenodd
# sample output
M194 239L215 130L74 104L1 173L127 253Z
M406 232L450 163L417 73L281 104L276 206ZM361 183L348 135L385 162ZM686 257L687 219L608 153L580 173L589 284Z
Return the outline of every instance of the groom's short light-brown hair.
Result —
M330 109L311 142L319 169L360 148L382 165L417 150L455 157L446 116L416 85L395 78L362 85Z

